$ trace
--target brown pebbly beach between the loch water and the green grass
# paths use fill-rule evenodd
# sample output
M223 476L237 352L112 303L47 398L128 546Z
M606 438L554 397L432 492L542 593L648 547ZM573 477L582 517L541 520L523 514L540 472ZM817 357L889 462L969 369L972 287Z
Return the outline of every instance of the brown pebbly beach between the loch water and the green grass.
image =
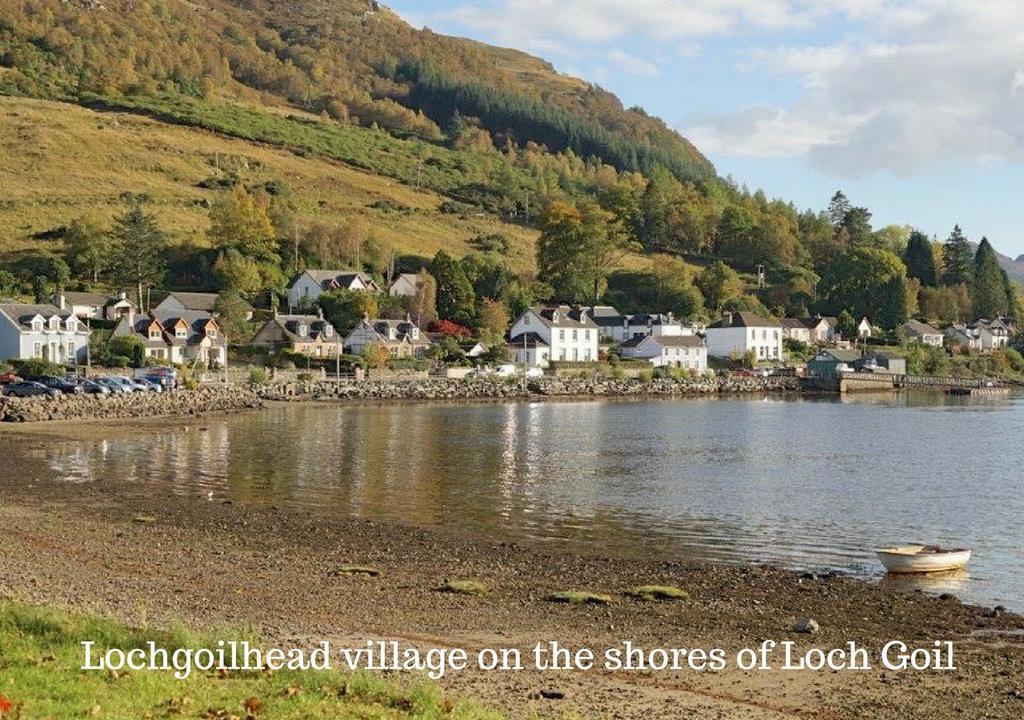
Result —
M977 714L1024 702L1024 617L962 605L949 597L902 593L840 576L811 577L767 565L568 553L551 543L498 542L466 531L330 520L259 509L244 501L167 492L137 497L111 478L88 486L31 478L4 480L0 507L3 594L48 606L138 623L248 627L267 641L361 642L390 638L421 646L528 647L542 640L610 647L723 646L764 638L798 646L878 648L890 639L953 640L958 670L930 673L465 673L446 690L505 709L578 712L584 717L780 718L829 712L835 718L955 717L948 697ZM140 520L139 518L144 518ZM152 521L151 519L152 518ZM378 577L335 574L346 564ZM447 580L486 582L484 597L438 592ZM669 584L685 602L642 602L623 592ZM610 605L546 600L565 590L608 593ZM794 633L801 617L815 635ZM992 667L1007 673L993 673ZM536 701L545 688L559 702ZM937 693L932 690L938 689ZM1024 696L1024 692L1022 692ZM1007 698L1010 697L1008 701ZM944 700L943 700L944 698ZM1009 705L1008 705L1009 703ZM669 713L667 710L674 710ZM963 710L963 708L961 708Z

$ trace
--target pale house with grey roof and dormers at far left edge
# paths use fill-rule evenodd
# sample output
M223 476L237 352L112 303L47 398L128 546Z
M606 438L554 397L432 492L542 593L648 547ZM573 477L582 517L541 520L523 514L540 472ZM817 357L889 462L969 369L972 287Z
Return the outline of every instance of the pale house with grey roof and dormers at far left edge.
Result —
M0 361L34 357L68 365L85 364L89 329L68 308L56 305L0 304Z

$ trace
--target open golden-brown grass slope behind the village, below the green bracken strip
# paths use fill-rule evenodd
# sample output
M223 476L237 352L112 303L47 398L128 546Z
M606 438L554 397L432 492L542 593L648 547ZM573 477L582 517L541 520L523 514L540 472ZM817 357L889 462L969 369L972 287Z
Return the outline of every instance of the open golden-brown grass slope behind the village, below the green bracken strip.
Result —
M217 190L199 183L216 177L218 164L247 183L283 182L303 226L359 216L372 235L420 255L463 255L468 240L502 232L513 241L509 264L534 264L535 230L483 213L443 213L447 198L389 177L138 115L11 97L0 97L0 250L46 245L46 234L82 215L105 221L124 209L125 192L151 196L162 224L202 244ZM371 207L381 201L399 209Z

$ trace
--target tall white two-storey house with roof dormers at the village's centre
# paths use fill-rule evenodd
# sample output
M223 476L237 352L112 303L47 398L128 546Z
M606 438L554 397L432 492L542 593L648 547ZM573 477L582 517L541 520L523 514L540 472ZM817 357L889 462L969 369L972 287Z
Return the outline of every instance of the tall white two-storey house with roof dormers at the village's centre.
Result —
M592 363L598 357L597 324L585 308L530 307L509 333L516 363L547 368L556 363Z

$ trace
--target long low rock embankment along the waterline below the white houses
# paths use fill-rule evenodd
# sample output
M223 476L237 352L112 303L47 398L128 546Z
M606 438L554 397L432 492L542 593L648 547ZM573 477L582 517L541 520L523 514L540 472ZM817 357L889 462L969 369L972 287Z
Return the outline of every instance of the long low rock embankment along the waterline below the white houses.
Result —
M307 382L266 385L257 388L267 399L486 399L540 397L709 395L733 393L799 392L797 378L695 378L612 380L607 378L539 378L522 380L474 378L471 380L418 380L362 382Z

